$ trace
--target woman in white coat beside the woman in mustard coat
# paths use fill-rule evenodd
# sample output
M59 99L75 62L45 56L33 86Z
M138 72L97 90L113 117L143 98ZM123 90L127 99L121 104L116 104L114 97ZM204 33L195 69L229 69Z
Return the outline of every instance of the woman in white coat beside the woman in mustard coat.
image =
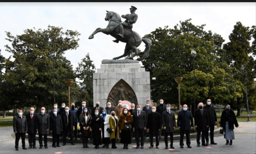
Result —
M110 115L108 115L105 111L105 109L102 109L102 115L101 115L102 119L103 119L103 123L104 123L104 129L102 129L101 132L101 137L102 137L102 143L104 143L103 148L109 148L109 143L110 143L110 134L107 131L107 128L109 128L109 117Z

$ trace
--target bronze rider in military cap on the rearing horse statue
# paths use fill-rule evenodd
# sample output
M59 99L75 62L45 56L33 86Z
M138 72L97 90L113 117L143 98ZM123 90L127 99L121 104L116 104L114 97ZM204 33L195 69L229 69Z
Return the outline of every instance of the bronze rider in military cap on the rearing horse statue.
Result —
M131 6L131 8L130 8L131 14L126 14L126 15L121 16L122 18L125 18L126 20L119 24L120 32L117 35L119 35L120 37L123 38L123 27L126 29L131 29L131 30L133 29L133 24L136 23L136 21L138 19L138 15L135 13L136 10L137 10L136 7ZM116 39L116 40L114 40L114 42L118 43L119 40Z

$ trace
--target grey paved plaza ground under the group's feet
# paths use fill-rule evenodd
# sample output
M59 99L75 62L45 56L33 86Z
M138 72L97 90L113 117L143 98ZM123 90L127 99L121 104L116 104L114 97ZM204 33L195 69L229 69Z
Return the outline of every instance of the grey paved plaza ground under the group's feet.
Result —
M82 144L77 143L76 145L72 146L70 143L67 143L66 146L61 146L57 148L53 148L51 146L51 142L48 143L48 149L38 149L38 141L36 142L37 149L28 149L28 150L22 150L21 148L21 140L20 140L20 150L15 151L14 145L15 145L15 139L12 138L13 132L12 127L5 127L0 128L0 153L28 153L28 154L36 154L36 153L55 153L55 152L63 152L63 153L97 153L97 154L108 154L108 153L116 153L116 154L122 154L122 153L147 153L147 154L154 154L154 153L195 153L195 154L202 154L202 153L232 153L232 154L240 154L240 153L250 153L255 154L256 153L256 122L239 122L239 127L235 128L235 140L233 141L233 145L225 145L226 140L223 138L223 136L215 137L214 140L217 145L209 145L211 148L206 147L197 147L197 143L195 139L191 140L191 146L192 148L187 148L184 146L184 149L181 149L179 147L179 141L176 140L174 143L175 150L174 151L168 151L165 149L165 143L160 142L160 148L152 148L149 149L150 146L149 143L145 143L144 149L135 149L132 146L135 146L135 144L129 144L129 149L123 149L122 144L117 144L117 149L105 149L105 148L99 148L95 149L92 144L89 144L89 148L82 148ZM184 143L186 141L184 140ZM62 145L62 144L61 144ZM170 143L169 143L170 145ZM101 145L102 146L102 145ZM28 147L28 140L26 139L26 147ZM110 145L111 147L111 145Z

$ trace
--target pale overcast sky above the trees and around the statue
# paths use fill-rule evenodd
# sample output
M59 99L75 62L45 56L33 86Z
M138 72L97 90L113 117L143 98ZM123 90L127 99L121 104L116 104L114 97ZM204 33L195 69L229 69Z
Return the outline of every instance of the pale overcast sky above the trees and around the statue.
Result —
M121 16L130 13L131 5L137 7L138 15L133 30L141 37L156 28L166 25L173 28L179 21L191 18L193 25L206 24L204 30L220 34L227 43L237 21L244 26L256 25L256 2L1 2L1 54L6 58L11 55L5 51L4 45L9 44L5 40L5 31L16 36L24 34L25 29L47 29L51 25L63 27L63 31L77 30L81 34L77 50L66 51L64 55L71 61L73 69L87 53L96 68L100 68L103 59L122 55L125 43L114 43L112 36L103 33L96 34L94 39L88 37L96 28L108 25L108 21L104 20L106 10ZM144 45L142 42L138 48L144 51Z

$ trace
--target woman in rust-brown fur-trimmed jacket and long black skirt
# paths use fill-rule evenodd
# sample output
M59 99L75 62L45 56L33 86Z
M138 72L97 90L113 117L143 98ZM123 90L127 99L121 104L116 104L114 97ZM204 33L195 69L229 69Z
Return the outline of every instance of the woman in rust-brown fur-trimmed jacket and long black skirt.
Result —
M125 129L125 125L131 125L132 123L133 117L131 116L131 113L128 112L127 108L123 109L118 121L121 136L120 143L123 143L123 149L128 149L128 144L131 143L131 132L130 130Z

